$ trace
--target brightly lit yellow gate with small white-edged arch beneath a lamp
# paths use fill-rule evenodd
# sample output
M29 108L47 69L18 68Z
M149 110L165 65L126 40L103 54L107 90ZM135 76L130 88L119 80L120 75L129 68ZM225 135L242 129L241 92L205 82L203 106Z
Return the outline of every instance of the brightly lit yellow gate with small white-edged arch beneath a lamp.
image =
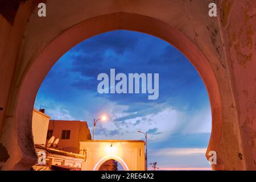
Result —
M145 142L143 140L86 140L80 142L80 155L86 160L82 171L115 171L117 162L125 171L144 171Z

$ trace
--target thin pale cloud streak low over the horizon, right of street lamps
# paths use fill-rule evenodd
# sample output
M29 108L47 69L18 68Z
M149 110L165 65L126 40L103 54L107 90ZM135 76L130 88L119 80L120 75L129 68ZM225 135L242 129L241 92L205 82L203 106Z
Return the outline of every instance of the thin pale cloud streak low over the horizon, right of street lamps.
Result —
M205 154L207 148L162 148L152 153L159 156L197 155Z

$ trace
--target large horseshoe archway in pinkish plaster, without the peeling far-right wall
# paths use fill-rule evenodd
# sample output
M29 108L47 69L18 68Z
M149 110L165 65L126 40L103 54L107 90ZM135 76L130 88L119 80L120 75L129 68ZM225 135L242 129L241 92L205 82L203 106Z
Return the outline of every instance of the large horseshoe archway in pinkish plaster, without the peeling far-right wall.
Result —
M57 6L57 1L47 2L52 7ZM112 3L104 0L101 3L106 3L109 9L104 9L106 6L103 5L98 7L96 2L88 6L85 6L86 2L79 2L75 5L79 9L76 12L72 11L74 7L69 6L70 1L61 2L67 15L70 15L65 21L67 23L61 22L65 15L61 10L49 10L49 15L56 15L52 19L38 19L36 14L31 14L32 1L21 5L16 14L13 34L21 29L18 36L21 40L24 36L24 40L20 46L22 48L15 52L15 55L19 55L19 61L14 66L16 69L13 68L14 79L9 83L10 94L6 98L7 108L1 121L1 152L5 150L11 156L1 162L2 169L29 169L36 162L31 130L32 109L39 86L52 65L82 40L112 30L144 32L165 40L183 52L199 72L208 90L212 134L207 154L209 151L217 152L217 165L213 165L213 169L253 169L253 160L250 158L253 148L246 143L246 135L240 134L239 109L236 105L238 98L233 93L234 81L230 81L233 79L232 73L227 69L230 65L225 62L219 34L222 29L217 27L217 20L203 15L208 13L206 2L148 1L131 2L128 6L121 1ZM184 7L187 7L187 14L183 13ZM173 10L171 14L170 10ZM177 16L180 16L180 21L176 20ZM196 20L191 22L189 16ZM28 24L27 18L30 19ZM205 23L205 27L199 27L202 23ZM40 38L36 39L38 35ZM9 60L6 56L5 63ZM7 95L9 90L2 92ZM0 117L3 118L2 113Z

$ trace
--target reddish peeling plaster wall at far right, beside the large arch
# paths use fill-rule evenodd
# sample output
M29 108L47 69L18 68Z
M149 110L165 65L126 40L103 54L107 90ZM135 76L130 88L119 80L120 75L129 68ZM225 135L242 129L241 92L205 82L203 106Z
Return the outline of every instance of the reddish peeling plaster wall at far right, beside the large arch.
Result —
M220 1L220 29L247 169L256 169L256 1Z

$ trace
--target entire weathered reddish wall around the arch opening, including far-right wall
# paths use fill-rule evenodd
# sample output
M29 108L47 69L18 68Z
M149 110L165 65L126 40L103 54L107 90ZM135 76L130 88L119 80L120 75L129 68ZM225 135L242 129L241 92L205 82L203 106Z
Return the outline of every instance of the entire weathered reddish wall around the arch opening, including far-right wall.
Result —
M52 65L82 40L119 29L158 36L195 66L212 109L213 169L255 169L255 1L216 1L217 18L201 0L48 0L43 18L33 2L20 5L13 25L0 15L0 142L11 156L2 169L36 161L32 109Z

